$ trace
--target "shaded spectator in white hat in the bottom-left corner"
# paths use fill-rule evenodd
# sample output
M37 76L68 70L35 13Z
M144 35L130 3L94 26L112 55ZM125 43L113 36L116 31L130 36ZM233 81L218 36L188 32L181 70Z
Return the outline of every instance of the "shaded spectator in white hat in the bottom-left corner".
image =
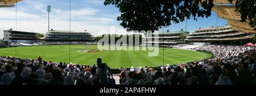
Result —
M0 85L10 85L13 79L15 78L15 73L5 73L1 77Z

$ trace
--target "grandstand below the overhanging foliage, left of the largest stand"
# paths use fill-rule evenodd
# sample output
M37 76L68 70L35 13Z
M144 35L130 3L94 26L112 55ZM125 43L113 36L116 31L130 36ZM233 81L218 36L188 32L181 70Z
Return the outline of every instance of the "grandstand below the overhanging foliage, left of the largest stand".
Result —
M158 43L159 46L171 46L185 43L184 39L188 34L189 32L184 32L183 29L172 32L167 30L167 32L148 34L143 39L146 40L146 43L152 43L152 45ZM159 42L152 42L155 38L158 38Z

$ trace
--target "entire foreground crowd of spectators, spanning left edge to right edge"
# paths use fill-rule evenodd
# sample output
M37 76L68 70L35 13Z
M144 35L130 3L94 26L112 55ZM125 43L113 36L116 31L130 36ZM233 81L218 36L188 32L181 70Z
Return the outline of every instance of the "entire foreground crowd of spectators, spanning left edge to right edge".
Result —
M255 54L243 46L208 45L213 58L178 66L120 68L121 85L247 85L256 84ZM100 61L100 60L98 60ZM105 63L94 66L0 56L1 85L115 85Z

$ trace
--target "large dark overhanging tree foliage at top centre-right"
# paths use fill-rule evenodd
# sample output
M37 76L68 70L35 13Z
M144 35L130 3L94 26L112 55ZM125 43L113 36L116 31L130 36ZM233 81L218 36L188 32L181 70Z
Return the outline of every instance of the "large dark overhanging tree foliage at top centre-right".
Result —
M127 30L158 30L185 18L208 18L213 0L105 0L104 5L119 8L121 26ZM201 7L199 7L201 5Z

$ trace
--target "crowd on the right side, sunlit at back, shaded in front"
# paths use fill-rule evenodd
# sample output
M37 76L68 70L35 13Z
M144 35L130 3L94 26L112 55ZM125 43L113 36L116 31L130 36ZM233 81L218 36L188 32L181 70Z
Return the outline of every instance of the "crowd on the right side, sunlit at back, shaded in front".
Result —
M256 84L255 54L252 47L208 45L213 58L177 66L121 68L122 85L251 85Z

